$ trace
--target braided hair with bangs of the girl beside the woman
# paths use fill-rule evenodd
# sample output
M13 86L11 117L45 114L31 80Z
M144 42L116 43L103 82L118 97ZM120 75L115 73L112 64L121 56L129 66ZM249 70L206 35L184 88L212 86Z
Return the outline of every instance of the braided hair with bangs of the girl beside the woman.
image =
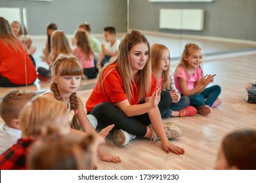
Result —
M81 76L83 78L83 67L81 65L81 61L75 58L74 55L60 54L58 55L58 57L53 63L51 73L52 73L52 78L53 78L53 75L54 76ZM58 86L54 81L51 82L51 90L53 91L55 99L57 99L58 101L62 101L62 97L60 95L60 92L58 91ZM74 110L76 113L78 106L79 105L77 101L76 92L74 92L70 96L70 109ZM74 114L74 117L72 120L72 128L78 129L77 114Z

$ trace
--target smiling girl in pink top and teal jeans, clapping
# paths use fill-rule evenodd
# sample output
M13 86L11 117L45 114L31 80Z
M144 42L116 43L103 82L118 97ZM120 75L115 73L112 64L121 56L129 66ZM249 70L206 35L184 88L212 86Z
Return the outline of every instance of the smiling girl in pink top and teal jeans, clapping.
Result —
M215 85L207 88L208 84L213 82L215 75L203 75L201 63L202 49L200 46L194 43L186 44L174 77L179 92L188 96L190 105L206 116L211 113L211 107L221 105L221 99L217 98L221 93L221 87Z

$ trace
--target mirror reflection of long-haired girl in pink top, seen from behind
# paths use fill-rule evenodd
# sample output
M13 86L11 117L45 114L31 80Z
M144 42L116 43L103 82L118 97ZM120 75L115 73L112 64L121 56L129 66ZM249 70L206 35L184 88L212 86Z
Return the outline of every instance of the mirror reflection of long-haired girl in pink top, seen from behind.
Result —
M93 48L91 48L87 33L85 31L75 31L74 37L75 49L74 55L81 61L83 65L83 73L88 78L96 78L98 68L95 67Z

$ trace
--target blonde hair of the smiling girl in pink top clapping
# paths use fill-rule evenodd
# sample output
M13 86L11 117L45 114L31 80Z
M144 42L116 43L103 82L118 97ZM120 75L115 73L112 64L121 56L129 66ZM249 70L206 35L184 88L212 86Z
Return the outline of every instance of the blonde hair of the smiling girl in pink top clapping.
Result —
M184 50L183 50L183 53L181 55L181 61L179 63L179 65L176 67L179 68L179 67L183 67L184 69L188 69L188 61L186 61L186 57L189 57L192 53L192 51L194 50L202 50L202 48L200 46L198 46L198 44L196 43L188 43L186 44L186 46L184 47ZM203 73L203 70L202 70L202 67L201 65L199 66L199 68L201 69L202 73ZM188 75L188 72L186 72L186 75Z

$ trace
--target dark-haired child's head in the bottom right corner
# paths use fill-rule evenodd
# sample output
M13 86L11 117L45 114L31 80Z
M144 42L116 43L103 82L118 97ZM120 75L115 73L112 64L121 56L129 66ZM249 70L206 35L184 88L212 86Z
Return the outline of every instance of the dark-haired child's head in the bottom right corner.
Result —
M226 135L215 169L256 170L256 130L240 129Z

